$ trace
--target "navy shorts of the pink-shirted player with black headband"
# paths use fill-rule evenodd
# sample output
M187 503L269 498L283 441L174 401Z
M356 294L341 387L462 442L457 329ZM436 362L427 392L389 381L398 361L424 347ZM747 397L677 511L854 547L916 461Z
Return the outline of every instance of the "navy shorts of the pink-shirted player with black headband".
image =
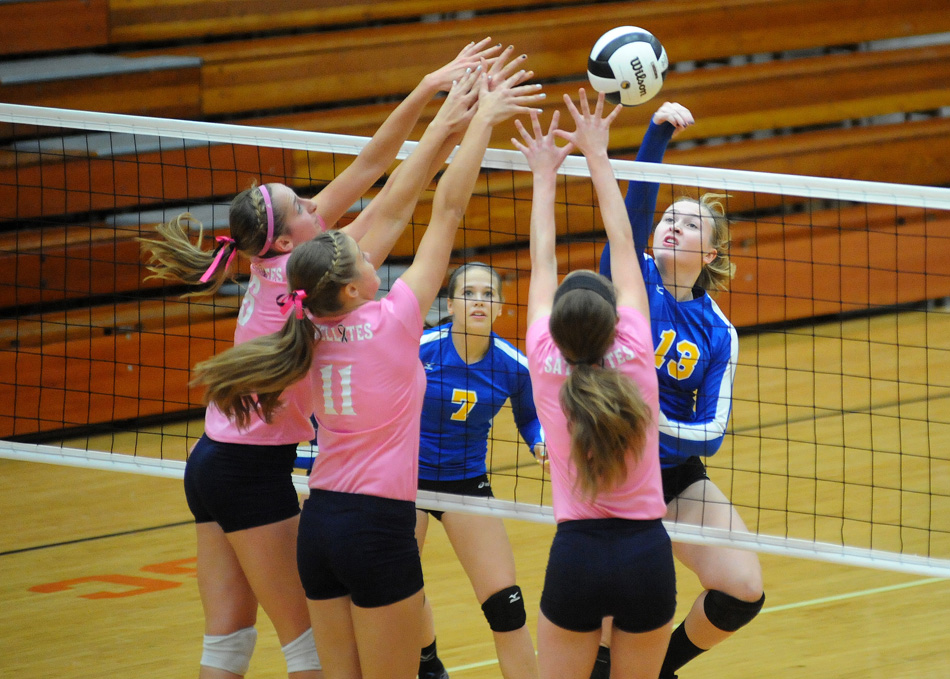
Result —
M660 519L585 519L558 524L541 612L572 632L600 629L609 615L624 632L655 630L676 611L670 537Z

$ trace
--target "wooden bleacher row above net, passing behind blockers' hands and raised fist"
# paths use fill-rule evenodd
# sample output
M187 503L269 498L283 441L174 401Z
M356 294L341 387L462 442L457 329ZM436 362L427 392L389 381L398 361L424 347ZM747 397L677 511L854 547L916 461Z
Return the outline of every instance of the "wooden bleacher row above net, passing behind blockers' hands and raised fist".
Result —
M874 82L875 87L868 87ZM926 111L950 106L950 44L881 52L855 52L770 61L716 69L673 73L651 102L624 111L611 129L615 151L640 145L646 124L663 101L687 106L697 124L680 132L676 141L730 137L784 128L806 128L858 118ZM564 95L576 98L579 87L595 94L586 78L547 84L541 108L543 120L562 112L570 127ZM741 102L737 105L736 102ZM438 112L440 102L426 107L413 131L418 138ZM263 116L243 124L372 136L392 111L389 104L366 104ZM846 134L846 132L842 132ZM499 125L492 148L513 148L511 125Z

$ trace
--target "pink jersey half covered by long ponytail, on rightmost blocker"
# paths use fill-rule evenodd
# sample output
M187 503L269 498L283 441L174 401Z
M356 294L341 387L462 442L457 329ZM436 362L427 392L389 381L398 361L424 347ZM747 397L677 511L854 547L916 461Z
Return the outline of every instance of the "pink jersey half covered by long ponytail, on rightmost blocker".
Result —
M575 488L577 471L570 460L571 439L567 418L558 400L571 366L551 339L550 316L539 318L525 339L528 370L534 389L538 418L544 428L548 456L551 460L551 487L554 519L658 519L666 513L660 480L659 391L653 358L650 323L640 312L620 307L617 338L605 356L605 366L619 370L633 380L653 413L653 424L647 429L646 445L639 462L633 457L627 463L627 479L619 486L601 491L591 502Z

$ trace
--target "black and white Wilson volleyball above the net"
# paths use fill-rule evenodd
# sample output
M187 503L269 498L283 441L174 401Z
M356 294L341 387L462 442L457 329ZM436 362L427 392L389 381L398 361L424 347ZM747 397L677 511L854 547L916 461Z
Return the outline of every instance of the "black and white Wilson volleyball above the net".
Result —
M587 78L610 103L637 106L659 93L669 65L666 50L652 33L637 26L618 26L594 43L587 59Z

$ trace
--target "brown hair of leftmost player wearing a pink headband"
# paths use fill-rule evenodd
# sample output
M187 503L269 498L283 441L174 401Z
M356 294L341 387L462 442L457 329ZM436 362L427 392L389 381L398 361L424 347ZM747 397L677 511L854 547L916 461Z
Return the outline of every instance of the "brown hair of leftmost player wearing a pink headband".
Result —
M267 240L267 212L264 197L257 186L241 191L231 201L228 211L228 223L233 243L219 243L217 248L205 250L204 224L194 215L184 212L155 230L159 239L138 238L142 251L147 255L146 266L152 272L145 280L158 278L188 285L203 285L201 290L186 293L185 297L210 295L218 291L225 281L233 277L229 270L227 257L237 250L247 257L257 255ZM274 211L274 235L281 235L285 229L283 213ZM191 232L197 230L198 237L191 241ZM214 262L218 248L224 248L223 261L214 270L212 277L205 283L201 280Z

